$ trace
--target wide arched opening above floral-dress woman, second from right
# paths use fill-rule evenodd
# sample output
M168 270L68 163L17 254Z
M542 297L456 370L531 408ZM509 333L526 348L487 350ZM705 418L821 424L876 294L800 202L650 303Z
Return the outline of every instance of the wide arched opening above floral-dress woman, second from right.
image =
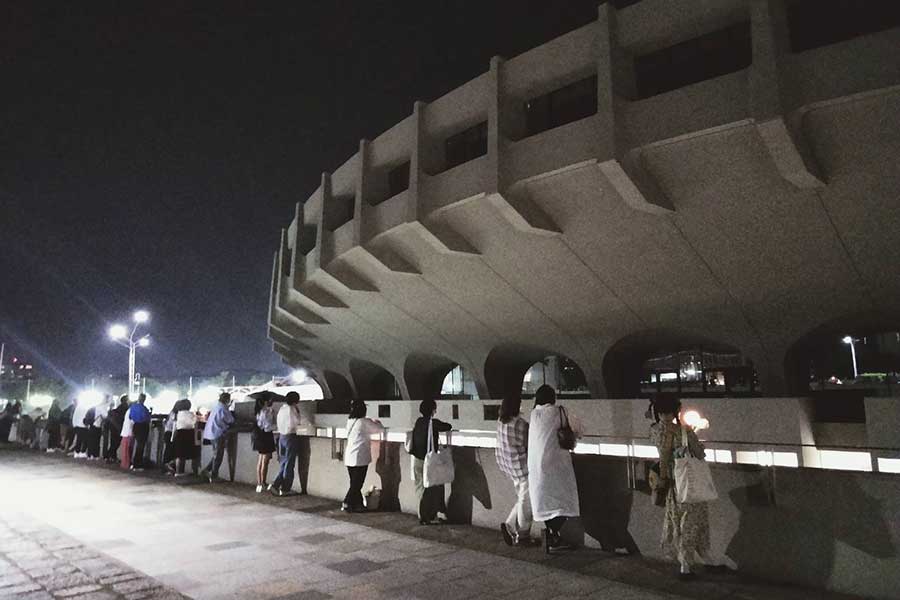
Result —
M753 365L738 348L670 330L642 331L619 340L603 359L603 379L610 398L656 392L733 396L759 390Z

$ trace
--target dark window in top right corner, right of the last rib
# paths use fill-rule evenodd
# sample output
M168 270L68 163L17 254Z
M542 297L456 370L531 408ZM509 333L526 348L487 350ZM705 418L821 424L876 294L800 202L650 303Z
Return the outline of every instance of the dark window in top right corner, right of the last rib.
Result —
M795 0L787 7L794 52L900 26L897 0Z

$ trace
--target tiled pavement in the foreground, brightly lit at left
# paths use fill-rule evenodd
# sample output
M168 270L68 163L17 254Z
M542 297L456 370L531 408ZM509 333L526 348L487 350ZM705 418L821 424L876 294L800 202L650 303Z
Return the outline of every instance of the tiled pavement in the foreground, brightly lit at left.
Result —
M847 598L337 508L0 448L0 598Z

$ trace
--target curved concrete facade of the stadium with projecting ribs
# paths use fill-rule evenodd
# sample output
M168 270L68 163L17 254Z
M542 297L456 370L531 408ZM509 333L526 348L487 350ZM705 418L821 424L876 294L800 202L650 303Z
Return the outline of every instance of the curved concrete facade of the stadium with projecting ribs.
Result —
M740 351L773 396L803 383L811 332L897 327L900 28L793 52L785 14L604 4L417 102L282 231L275 350L338 398L389 394L390 376L431 395L455 365L499 397L551 354L617 397L652 348L704 344ZM635 58L737 25L749 66L641 97ZM593 77L593 114L529 131L527 102ZM483 154L450 166L448 138L478 127Z

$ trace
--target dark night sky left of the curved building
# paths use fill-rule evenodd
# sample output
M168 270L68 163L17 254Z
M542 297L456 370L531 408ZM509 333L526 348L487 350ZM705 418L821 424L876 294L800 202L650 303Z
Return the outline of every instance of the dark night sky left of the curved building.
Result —
M596 17L596 0L0 7L0 341L45 374L281 369L272 254L369 139Z

